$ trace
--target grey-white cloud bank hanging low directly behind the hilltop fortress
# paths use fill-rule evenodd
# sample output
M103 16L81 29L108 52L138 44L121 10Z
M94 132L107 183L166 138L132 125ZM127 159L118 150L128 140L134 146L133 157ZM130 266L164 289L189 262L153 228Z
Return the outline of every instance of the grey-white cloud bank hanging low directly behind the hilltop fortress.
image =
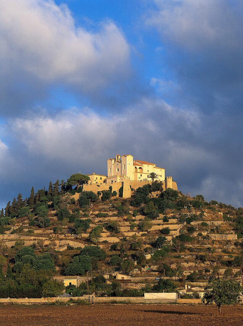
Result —
M5 164L16 164L16 175L21 175L19 191L24 188L28 193L33 180L42 187L50 179L66 179L75 169L105 174L106 160L120 153L166 168L166 175L172 174L184 192L219 201L225 201L227 193L233 205L242 206L242 161L234 152L237 147L230 146L228 133L218 137L218 130L213 131L219 122L227 129L223 117L219 121L218 116L186 112L156 98L143 98L124 113L107 117L87 108L81 111L70 108L51 116L43 110L38 116L9 123L7 128L18 141L8 149L5 146ZM16 175L8 175L8 181L14 184Z

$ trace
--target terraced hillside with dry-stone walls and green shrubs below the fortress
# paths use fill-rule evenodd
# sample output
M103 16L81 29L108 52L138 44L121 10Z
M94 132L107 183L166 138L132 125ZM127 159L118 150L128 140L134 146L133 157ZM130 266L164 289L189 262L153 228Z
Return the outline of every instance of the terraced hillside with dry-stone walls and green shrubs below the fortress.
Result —
M163 190L159 182L132 189L130 199L112 189L97 196L54 188L34 197L32 191L19 207L16 200L8 203L0 219L4 273L9 266L21 273L26 261L34 268L33 259L21 258L16 265L16 255L27 246L37 258L49 255L56 279L91 275L92 269L93 276L113 282L119 272L133 277L122 286L127 289L151 288L160 276L183 287L186 279L241 275L242 208Z

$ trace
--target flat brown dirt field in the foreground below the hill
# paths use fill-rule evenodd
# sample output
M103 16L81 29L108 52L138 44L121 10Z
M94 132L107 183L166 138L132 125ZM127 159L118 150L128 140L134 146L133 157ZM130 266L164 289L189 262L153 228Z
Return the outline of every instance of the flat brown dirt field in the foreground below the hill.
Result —
M2 326L241 326L243 306L204 305L59 305L0 306Z

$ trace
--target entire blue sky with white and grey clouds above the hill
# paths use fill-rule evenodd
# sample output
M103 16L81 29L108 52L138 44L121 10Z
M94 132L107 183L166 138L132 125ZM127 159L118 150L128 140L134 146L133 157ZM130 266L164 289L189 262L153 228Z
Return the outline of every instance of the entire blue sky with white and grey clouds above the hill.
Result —
M243 5L0 0L0 209L131 154L243 206Z

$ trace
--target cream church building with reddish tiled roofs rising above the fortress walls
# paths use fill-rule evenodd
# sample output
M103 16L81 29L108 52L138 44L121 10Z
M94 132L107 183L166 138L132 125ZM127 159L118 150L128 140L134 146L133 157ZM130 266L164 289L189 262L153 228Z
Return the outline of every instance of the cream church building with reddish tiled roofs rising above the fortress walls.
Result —
M148 179L149 174L155 172L156 180L165 181L165 169L159 168L154 163L134 160L132 155L117 155L116 158L107 160L107 183L121 182L124 178L142 181Z

